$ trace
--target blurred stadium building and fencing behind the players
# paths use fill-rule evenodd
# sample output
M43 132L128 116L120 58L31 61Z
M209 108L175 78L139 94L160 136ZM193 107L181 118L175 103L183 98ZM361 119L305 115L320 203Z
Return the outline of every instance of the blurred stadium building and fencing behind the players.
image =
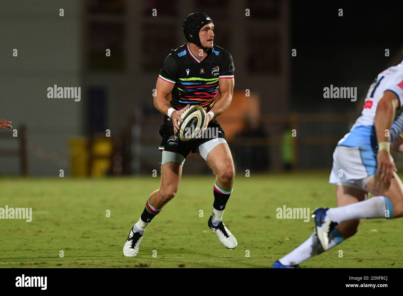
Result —
M163 115L154 108L152 92L162 62L172 48L185 42L183 19L197 10L210 14L215 42L234 58L233 103L218 121L237 169L276 171L286 161L296 169L330 168L334 146L362 104L344 102L334 111L333 102L319 97L323 80L315 85L319 93L312 93L314 82L305 75L306 64L292 64L291 29L297 31L299 24L291 18L298 5L289 0L2 3L0 34L7 46L0 47L0 56L9 58L2 59L0 100L6 113L0 117L27 127L27 156L0 157L0 175L58 176L60 169L66 176L159 171L158 129ZM253 17L239 13L245 7ZM63 17L58 15L60 8ZM157 16L152 16L154 8ZM18 49L18 58L11 57L13 48ZM105 56L106 49L111 50L110 57ZM369 48L365 54L370 56L374 50ZM400 61L401 55L396 55L377 63L386 68ZM316 62L311 68L316 66L328 67ZM360 73L374 76L382 70L365 66ZM340 75L339 82L357 86L362 100L372 80L358 74L355 80ZM47 88L54 84L81 87L81 101L48 99ZM246 90L250 97L245 96ZM106 129L110 138L105 138ZM285 129L297 131L288 144L284 144ZM9 145L3 138L0 144ZM286 157L289 160L284 156L287 149L293 154ZM187 174L209 171L202 158L192 154L183 169Z

